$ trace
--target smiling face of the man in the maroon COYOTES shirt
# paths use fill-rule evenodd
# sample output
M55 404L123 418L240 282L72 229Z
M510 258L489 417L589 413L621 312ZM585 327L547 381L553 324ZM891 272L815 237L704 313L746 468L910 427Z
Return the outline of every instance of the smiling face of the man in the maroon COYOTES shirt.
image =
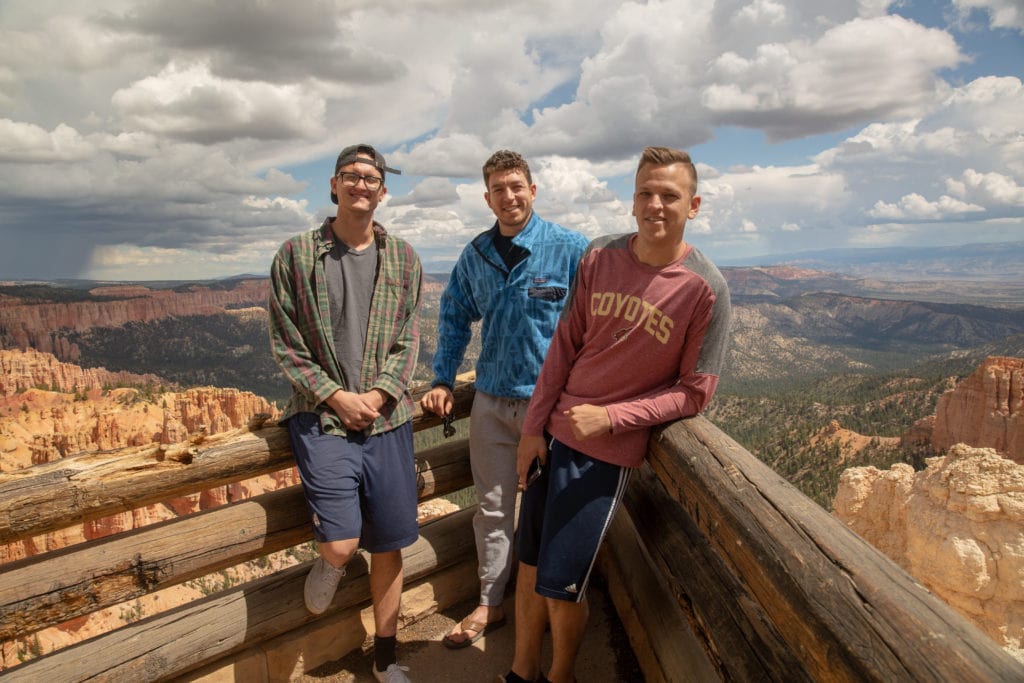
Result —
M683 164L646 164L637 171L633 215L637 246L644 251L678 252L686 221L697 215L700 197Z

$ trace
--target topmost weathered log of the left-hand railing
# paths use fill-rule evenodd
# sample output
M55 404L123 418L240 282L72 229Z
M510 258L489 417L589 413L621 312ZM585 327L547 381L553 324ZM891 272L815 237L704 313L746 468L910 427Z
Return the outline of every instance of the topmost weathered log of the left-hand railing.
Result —
M456 391L456 418L467 417L472 386ZM417 404L414 429L440 423ZM168 457L159 446L95 453L0 474L0 544L214 488L291 467L281 427L200 443Z

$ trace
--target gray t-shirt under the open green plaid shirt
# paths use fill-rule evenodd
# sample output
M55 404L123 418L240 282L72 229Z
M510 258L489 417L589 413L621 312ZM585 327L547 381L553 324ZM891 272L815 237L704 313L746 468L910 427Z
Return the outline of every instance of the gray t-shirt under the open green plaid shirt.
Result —
M334 351L338 355L345 389L358 393L362 349L370 324L370 300L377 275L377 242L355 251L336 240L324 265Z

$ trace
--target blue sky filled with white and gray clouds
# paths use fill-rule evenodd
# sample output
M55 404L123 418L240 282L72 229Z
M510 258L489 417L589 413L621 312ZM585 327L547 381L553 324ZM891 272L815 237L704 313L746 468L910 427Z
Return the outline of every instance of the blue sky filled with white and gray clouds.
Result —
M434 272L503 147L589 237L634 228L643 145L690 151L723 263L1024 240L1020 0L352 5L0 2L0 280L266 272L353 142Z

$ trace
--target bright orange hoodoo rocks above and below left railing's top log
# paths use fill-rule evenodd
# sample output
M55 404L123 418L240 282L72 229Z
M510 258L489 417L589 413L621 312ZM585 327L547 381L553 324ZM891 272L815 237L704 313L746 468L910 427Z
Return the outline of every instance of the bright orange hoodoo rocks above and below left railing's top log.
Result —
M0 351L0 370L5 373L0 377L0 388L15 387L13 391L0 391L0 472L81 453L182 443L200 435L246 429L254 420L262 421L278 414L276 408L264 398L237 389L202 387L152 394L135 388L103 391L99 387L106 383L105 371L83 370L33 350ZM32 388L17 393L26 382L62 390ZM297 482L294 469L286 470L104 517L81 527L0 547L0 562L137 528Z

